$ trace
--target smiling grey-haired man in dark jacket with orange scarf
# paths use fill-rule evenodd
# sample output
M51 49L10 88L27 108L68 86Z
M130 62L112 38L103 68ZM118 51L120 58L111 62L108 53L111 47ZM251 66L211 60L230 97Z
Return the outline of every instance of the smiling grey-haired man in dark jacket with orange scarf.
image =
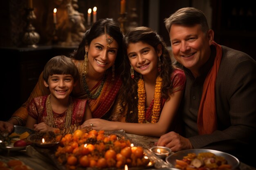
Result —
M256 62L213 41L202 11L177 10L164 20L175 60L186 74L180 107L183 134L169 132L156 142L173 152L208 148L228 152L256 167ZM254 153L252 153L254 154Z

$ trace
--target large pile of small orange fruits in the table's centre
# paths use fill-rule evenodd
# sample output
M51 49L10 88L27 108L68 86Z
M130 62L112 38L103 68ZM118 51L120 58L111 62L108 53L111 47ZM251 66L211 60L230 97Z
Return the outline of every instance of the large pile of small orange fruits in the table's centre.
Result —
M129 140L117 135L105 135L103 130L66 134L55 156L67 169L147 167L150 162L141 147L131 147Z

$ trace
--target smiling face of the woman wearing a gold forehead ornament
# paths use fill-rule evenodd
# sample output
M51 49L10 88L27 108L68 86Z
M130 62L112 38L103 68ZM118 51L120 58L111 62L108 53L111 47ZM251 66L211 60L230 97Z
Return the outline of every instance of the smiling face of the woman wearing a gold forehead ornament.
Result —
M108 35L108 34L107 34ZM92 40L88 51L88 71L94 73L104 73L110 68L117 57L117 50L119 48L117 41L114 39L107 47L106 35L102 34Z

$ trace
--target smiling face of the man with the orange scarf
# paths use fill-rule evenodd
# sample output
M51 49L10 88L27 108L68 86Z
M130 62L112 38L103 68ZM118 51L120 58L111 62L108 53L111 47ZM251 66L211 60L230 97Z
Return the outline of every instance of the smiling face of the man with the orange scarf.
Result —
M210 57L213 31L209 30L205 35L199 24L173 24L170 29L170 40L177 62L189 68L195 77L198 76L199 69Z

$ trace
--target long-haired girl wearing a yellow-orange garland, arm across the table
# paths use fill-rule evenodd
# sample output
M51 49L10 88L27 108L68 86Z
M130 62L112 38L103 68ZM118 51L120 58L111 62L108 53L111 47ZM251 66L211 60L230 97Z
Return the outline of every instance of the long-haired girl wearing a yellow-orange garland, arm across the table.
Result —
M81 127L93 125L95 130L123 129L160 137L168 132L176 116L185 86L184 72L172 65L163 39L148 27L128 31L124 49L120 92L126 122L88 119Z

